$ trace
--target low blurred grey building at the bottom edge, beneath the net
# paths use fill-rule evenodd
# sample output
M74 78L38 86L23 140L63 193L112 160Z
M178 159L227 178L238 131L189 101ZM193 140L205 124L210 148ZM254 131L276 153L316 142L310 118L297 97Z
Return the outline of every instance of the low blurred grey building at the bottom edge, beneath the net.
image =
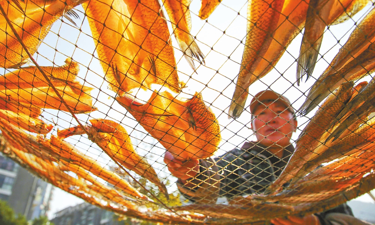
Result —
M54 219L54 225L120 225L124 221L115 219L115 214L96 207L95 205L83 202L58 211Z

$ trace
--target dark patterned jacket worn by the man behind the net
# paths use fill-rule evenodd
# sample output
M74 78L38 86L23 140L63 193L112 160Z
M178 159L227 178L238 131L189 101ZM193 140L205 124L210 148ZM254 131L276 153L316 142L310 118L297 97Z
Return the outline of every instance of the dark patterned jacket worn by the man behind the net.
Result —
M293 145L289 145L280 159L257 142L245 142L242 148L214 159L201 160L199 175L187 180L194 187L187 188L180 181L177 186L186 198L199 203L215 203L219 196L230 199L236 195L261 193L281 174L293 151ZM317 214L322 225L330 224L324 218L331 212L353 216L350 207L343 204Z

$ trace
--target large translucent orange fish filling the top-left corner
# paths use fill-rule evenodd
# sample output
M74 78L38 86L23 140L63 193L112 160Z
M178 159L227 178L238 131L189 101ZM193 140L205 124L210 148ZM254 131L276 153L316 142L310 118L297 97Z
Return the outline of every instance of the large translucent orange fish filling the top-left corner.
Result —
M25 0L18 1L23 12L12 1L1 1L12 25L33 55L45 38L52 24L64 12L86 0ZM26 13L26 17L24 16ZM40 26L42 24L43 26ZM24 29L24 31L23 31ZM14 36L3 15L0 15L0 67L16 68L27 62L28 55Z

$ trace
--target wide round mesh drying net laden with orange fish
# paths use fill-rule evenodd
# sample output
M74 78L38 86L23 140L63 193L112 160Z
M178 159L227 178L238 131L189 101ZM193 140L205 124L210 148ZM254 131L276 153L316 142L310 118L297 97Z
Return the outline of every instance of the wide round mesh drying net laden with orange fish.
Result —
M242 224L374 188L372 1L0 3L1 151L87 202L163 223ZM281 160L253 135L250 100L266 89L293 108L275 117L297 115ZM285 139L292 125L269 133ZM200 173L183 184L166 151L200 160Z

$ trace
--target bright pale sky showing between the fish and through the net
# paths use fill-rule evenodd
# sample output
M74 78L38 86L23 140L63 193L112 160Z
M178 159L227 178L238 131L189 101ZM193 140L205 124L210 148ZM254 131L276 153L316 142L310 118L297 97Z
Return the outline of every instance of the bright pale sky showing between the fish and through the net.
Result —
M204 101L207 105L210 105L211 110L219 121L222 142L219 145L219 150L215 153L219 156L242 145L244 141L253 139L252 130L249 126L250 113L248 110L243 112L237 120L228 119L227 115L235 87L233 80L236 80L239 72L244 49L247 1L223 0L207 21L201 20L197 16L200 6L201 2L199 0L192 0L190 4L191 33L196 36L197 43L206 56L205 65L199 65L196 73L194 73L178 49L177 42L173 36L172 45L175 47L179 78L186 82L187 86L187 88L183 89L184 94L192 95L195 92L201 92ZM77 114L77 117L83 123L86 123L90 118L105 117L121 122L130 136L132 136L132 142L139 154L148 159L150 164L159 172L160 177L168 177L169 172L166 170L162 160L165 151L162 145L157 143L151 136L146 135L144 129L139 126L130 114L115 102L115 93L108 89L107 83L104 81L103 70L97 59L89 24L82 13L83 9L81 6L76 7L76 9L80 11L78 13L80 19L75 20L80 29L66 19L63 19L64 22L58 20L40 45L39 54L35 55L38 64L40 66L51 66L53 64L61 66L67 57L72 57L73 60L80 63L78 77L82 83L85 82L85 85L95 87L92 96L96 99L94 106L98 108L98 111L90 114ZM302 82L301 86L297 86L295 83L296 58L299 55L302 40L302 34L299 34L287 48L275 69L252 84L249 90L250 94L255 95L261 90L270 88L290 99L294 108L299 108L305 100L303 93L312 86L314 80L327 68L341 45L348 39L350 32L354 28L354 23L359 21L369 9L369 6L365 7L353 19L331 26L325 32L317 65L312 78L306 83ZM169 22L168 26L171 30ZM369 77L364 80L366 79L369 80ZM247 106L250 100L251 96L248 99ZM57 132L57 129L77 125L77 122L68 113L59 112L56 114L56 112L55 110L46 110L43 113L45 120L53 121L57 124L52 131L53 134ZM299 128L293 135L293 140L297 139L312 115L314 115L314 112L309 113L306 117L298 118ZM69 138L68 141L75 144L85 154L97 159L103 166L111 165L109 157L102 153L96 145L92 144L87 139L87 136L74 136ZM171 181L173 183L175 179L171 178ZM175 189L174 184L168 188L168 190L172 191ZM366 195L359 197L358 200L374 202ZM67 206L76 205L80 202L83 202L83 200L55 188L49 217L53 217L55 212Z

